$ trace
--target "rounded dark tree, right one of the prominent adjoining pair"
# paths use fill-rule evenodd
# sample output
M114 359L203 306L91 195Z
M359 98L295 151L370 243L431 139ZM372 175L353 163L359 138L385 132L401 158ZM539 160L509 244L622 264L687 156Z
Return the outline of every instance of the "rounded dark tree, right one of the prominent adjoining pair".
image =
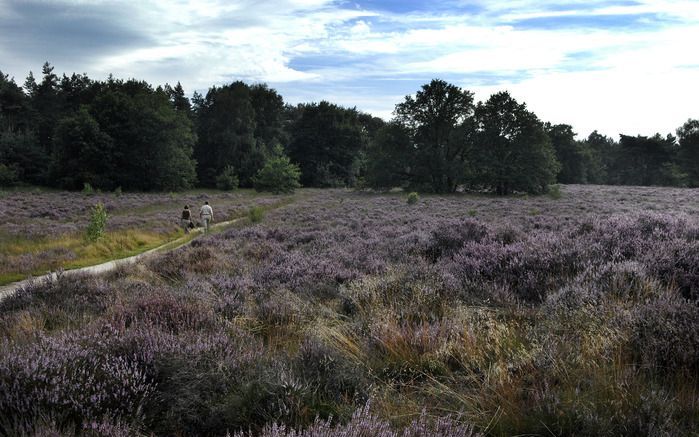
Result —
M544 126L507 92L493 94L475 112L473 150L476 185L497 194L544 192L560 165Z

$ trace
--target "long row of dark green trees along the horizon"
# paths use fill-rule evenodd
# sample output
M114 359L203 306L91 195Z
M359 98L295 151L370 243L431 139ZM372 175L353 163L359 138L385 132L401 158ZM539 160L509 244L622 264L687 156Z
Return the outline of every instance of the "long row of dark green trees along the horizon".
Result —
M499 194L555 182L699 186L699 121L677 137L544 123L508 93L475 103L441 80L396 105L390 122L329 102L292 106L263 84L214 86L61 77L44 64L23 86L0 72L0 185L102 190L250 187L260 174L308 187L405 187ZM286 166L286 167L285 167ZM264 168L264 171L261 171ZM265 183L268 183L266 181ZM291 181L295 184L295 181ZM260 183L259 185L264 185Z

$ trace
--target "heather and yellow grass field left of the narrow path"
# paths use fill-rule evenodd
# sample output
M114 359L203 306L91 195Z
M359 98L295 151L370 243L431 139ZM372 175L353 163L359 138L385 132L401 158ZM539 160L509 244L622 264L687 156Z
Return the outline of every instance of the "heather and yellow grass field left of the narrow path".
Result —
M252 206L271 207L285 198L251 191L120 195L0 191L0 285L159 246L182 234L179 217L184 205L196 214L205 200L215 206L217 221L226 221L244 216ZM107 238L86 244L85 230L97 203L109 215Z

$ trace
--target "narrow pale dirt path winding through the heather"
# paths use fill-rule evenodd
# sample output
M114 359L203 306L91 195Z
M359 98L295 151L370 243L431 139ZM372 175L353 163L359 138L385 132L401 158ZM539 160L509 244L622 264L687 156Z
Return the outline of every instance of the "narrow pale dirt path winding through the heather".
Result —
M227 226L232 225L233 223L239 222L242 219L243 219L243 217L238 217L236 219L229 220L226 222L214 223L213 225L211 225L211 229L216 230L216 229L225 228ZM204 235L204 231L201 228L195 229L192 232ZM196 238L197 237L194 237L191 240L188 240L187 236L182 236L182 237L178 238L177 240L169 241L169 242L162 244L156 248L147 250L143 253L139 253L138 255L130 256L127 258L116 259L116 260L112 260L112 261L107 261L105 263L97 264L94 266L87 266L87 267L81 267L78 269L65 270L63 272L63 275L75 275L75 274L80 274L80 273L87 273L87 274L91 274L91 275L96 275L99 273L108 272L108 271L114 270L118 266L133 264L133 263L140 261L143 258L146 258L150 255L155 254L155 253L165 253L165 252L169 252L171 250L175 250L179 247L182 247L182 246L185 246L185 245L191 243ZM15 291L19 290L22 287L26 287L27 285L31 284L32 282L55 280L56 277L57 277L56 272L50 272L50 273L47 273L47 274L42 275L42 276L35 276L33 278L25 279L23 281L13 282L12 284L0 286L0 301L11 296L12 294L14 294Z

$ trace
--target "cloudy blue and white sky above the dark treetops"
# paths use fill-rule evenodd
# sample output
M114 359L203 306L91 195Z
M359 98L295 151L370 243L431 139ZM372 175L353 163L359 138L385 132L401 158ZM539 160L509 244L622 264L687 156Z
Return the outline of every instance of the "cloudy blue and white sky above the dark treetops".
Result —
M389 120L434 78L618 138L699 118L699 0L0 0L0 71L267 83Z

